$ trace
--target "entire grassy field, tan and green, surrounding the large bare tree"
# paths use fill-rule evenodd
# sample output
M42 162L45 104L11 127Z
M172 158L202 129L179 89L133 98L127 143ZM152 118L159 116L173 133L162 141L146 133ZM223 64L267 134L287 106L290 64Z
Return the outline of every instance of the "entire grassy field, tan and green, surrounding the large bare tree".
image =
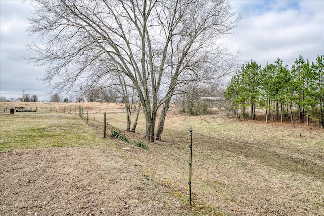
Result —
M0 215L324 215L320 129L171 110L163 141L144 150L132 144L145 142L143 116L124 132L119 104L23 105L37 112L2 114L17 105L0 103ZM103 112L107 134L130 143L102 138Z

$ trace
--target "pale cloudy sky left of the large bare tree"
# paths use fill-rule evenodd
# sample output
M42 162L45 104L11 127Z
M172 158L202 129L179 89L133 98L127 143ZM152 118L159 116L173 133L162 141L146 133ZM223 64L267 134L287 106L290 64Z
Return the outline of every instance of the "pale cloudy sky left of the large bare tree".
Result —
M28 37L26 28L33 7L21 1L1 0L0 10L0 96L18 98L26 90L29 95L40 95L41 100L48 99L50 90L37 80L45 68L34 67L24 59L32 55L26 45L34 38Z

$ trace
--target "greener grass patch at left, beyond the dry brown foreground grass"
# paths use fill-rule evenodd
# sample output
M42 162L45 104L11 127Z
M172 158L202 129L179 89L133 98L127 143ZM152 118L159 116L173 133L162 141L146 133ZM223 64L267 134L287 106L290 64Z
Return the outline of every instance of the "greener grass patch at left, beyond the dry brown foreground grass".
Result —
M0 151L88 146L97 138L82 120L70 115L1 115L0 121Z

